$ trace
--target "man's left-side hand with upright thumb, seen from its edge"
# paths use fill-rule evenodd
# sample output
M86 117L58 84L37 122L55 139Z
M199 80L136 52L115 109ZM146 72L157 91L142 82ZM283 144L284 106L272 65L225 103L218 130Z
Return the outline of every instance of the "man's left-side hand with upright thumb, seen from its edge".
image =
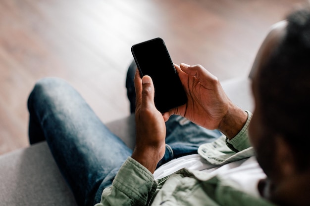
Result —
M162 114L155 108L154 84L149 76L135 75L136 147L132 158L154 173L165 154L166 126Z

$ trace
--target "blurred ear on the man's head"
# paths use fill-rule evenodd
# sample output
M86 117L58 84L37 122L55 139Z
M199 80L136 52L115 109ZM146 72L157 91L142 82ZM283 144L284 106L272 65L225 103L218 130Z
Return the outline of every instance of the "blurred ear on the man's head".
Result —
M275 141L275 160L280 167L278 171L281 172L282 178L294 175L297 168L292 147L282 136L277 136Z

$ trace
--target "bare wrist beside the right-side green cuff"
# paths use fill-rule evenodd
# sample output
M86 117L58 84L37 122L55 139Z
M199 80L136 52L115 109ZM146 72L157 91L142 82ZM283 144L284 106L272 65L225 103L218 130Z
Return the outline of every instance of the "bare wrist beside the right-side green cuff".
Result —
M218 130L230 140L239 133L244 124L246 124L247 119L248 113L230 102L227 113L221 120Z

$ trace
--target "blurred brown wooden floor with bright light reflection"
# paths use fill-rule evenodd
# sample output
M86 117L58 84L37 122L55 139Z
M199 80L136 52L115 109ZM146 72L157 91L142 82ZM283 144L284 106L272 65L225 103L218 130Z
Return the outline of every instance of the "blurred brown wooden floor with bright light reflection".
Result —
M172 60L220 80L247 75L273 23L303 0L1 0L0 154L28 146L27 97L70 82L103 122L129 114L131 45L161 37Z

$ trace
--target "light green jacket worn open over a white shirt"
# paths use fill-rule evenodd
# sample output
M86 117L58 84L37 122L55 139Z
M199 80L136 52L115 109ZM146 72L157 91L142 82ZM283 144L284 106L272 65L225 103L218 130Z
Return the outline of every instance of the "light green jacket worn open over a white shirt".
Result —
M247 130L252 114L243 129L231 140L225 136L200 146L198 153L213 165L253 156ZM181 169L163 179L154 180L143 165L128 158L118 171L111 187L103 190L96 206L273 206L265 199L238 190L233 181L201 171Z

